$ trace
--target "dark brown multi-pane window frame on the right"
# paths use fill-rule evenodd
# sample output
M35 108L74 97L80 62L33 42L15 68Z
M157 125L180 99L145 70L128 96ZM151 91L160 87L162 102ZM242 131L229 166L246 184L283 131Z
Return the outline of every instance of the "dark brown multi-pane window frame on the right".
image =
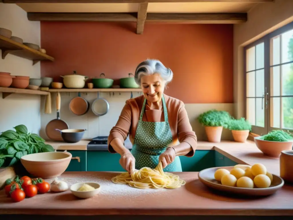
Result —
M255 40L254 42L246 45L245 47L243 47L243 72L244 72L244 93L243 93L243 97L244 97L244 114L245 114L245 118L247 116L247 97L246 97L246 92L247 92L247 87L246 87L246 50L248 50L249 48L256 46L260 43L264 43L264 88L265 88L265 98L264 98L264 106L265 106L265 126L264 127L259 127L259 126L252 126L252 132L258 135L264 135L266 133L268 133L269 131L275 130L275 129L283 129L283 128L275 128L271 126L271 105L270 105L270 99L271 99L271 82L270 82L270 40L271 38L274 38L282 33L285 33L287 31L290 31L293 29L293 22L288 23L285 26L282 26L280 28L278 28L277 30L266 34L265 36L263 36L262 38ZM280 63L280 66L282 66L284 64ZM256 68L256 67L255 67ZM254 70L256 72L256 70ZM255 73L256 74L256 73ZM280 94L281 95L281 94ZM267 102L267 104L266 104ZM282 114L282 113L281 113ZM282 126L282 125L280 125ZM293 128L287 129L289 131L293 132Z

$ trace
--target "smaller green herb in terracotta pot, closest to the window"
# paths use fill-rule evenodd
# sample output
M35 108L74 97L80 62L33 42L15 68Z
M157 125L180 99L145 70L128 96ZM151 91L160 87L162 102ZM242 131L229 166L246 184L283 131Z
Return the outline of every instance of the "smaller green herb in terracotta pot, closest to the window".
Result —
M234 119L229 121L228 129L232 132L234 141L244 143L251 131L251 124L245 118Z

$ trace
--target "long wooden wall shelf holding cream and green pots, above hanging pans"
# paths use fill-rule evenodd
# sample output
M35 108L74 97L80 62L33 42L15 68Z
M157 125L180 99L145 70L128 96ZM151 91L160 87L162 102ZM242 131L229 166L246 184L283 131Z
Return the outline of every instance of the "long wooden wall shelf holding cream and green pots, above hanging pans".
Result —
M49 92L142 92L142 89L49 89Z

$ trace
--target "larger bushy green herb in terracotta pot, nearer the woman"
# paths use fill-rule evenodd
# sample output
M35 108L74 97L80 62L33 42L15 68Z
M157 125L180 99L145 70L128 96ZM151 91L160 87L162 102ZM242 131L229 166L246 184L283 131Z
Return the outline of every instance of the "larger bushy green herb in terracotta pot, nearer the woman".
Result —
M206 111L197 118L199 123L205 127L209 142L221 141L223 128L227 128L230 119L231 116L227 111L218 111L215 109Z

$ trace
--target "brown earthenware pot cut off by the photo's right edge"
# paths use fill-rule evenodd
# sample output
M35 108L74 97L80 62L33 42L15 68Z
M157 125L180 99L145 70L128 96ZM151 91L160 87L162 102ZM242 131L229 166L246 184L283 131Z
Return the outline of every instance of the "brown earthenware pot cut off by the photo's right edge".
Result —
M280 156L280 177L293 183L293 150L283 150Z

